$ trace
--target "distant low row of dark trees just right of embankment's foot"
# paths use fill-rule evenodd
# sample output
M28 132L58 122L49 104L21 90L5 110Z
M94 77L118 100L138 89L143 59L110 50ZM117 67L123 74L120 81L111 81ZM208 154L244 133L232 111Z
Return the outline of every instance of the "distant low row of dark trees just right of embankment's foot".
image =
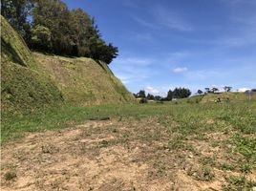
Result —
M173 98L185 98L191 95L191 91L186 88L175 88L173 91L169 90L167 96L153 96L148 94L146 96L144 90L140 90L139 93L134 94L136 98L145 98L148 100L159 100L159 101L171 101Z

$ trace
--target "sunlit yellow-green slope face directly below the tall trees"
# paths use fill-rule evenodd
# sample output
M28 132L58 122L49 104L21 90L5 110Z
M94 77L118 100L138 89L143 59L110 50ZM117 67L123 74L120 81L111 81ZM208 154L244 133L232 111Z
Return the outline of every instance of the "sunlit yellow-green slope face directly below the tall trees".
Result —
M135 100L103 62L42 53L34 53L34 57L40 70L51 75L68 102L83 106Z

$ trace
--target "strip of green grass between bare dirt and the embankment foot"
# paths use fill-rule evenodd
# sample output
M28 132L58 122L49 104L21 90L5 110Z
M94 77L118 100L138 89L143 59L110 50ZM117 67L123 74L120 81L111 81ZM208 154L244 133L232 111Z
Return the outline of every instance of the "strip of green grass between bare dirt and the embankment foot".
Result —
M207 131L237 131L255 134L256 103L230 104L119 104L77 107L64 105L55 109L34 112L31 115L2 114L2 141L20 137L24 132L56 129L78 124L92 117L159 117L168 126L175 120L183 136ZM207 121L211 119L212 122ZM248 121L245 124L245 121ZM172 130L173 131L173 130Z

